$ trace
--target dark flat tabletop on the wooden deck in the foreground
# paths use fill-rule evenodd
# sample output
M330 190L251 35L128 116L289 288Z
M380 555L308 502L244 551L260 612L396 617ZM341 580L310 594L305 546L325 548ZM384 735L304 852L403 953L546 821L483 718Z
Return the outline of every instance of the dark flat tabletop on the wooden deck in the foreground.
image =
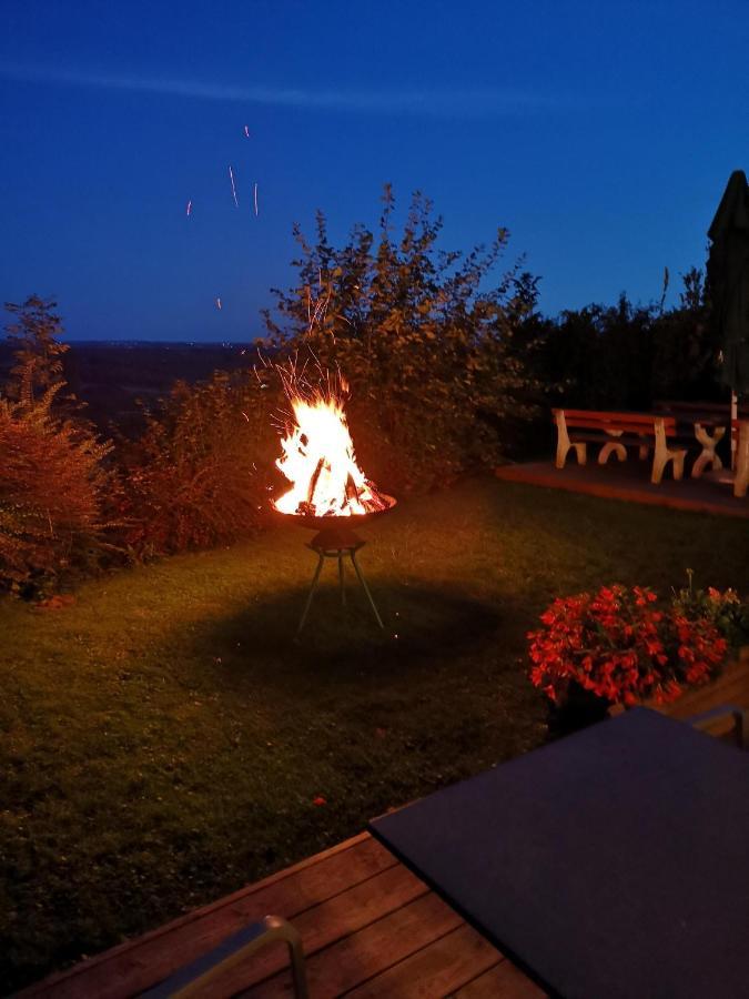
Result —
M370 829L549 991L749 997L749 753L636 708Z

